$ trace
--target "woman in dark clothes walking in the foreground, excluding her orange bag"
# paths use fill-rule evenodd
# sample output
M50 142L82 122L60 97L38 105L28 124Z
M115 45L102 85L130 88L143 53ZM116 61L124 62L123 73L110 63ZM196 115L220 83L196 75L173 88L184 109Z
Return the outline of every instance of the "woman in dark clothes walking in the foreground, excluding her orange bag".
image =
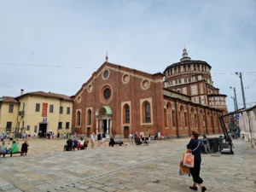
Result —
M189 151L192 151L192 154L194 154L194 167L189 168L190 173L193 177L193 185L189 186L190 189L197 190L196 184L198 184L201 187L201 191L204 192L207 190L205 186L203 186L203 180L200 177L200 168L201 168L201 145L200 141L198 140L199 133L198 131L192 131L191 133L191 140L189 144L187 145L187 148Z

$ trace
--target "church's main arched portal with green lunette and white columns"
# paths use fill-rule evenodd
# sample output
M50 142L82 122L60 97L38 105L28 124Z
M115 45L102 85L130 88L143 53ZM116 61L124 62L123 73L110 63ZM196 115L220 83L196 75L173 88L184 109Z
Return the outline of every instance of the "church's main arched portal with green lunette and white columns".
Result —
M102 106L96 110L96 132L111 134L112 110L108 106Z

